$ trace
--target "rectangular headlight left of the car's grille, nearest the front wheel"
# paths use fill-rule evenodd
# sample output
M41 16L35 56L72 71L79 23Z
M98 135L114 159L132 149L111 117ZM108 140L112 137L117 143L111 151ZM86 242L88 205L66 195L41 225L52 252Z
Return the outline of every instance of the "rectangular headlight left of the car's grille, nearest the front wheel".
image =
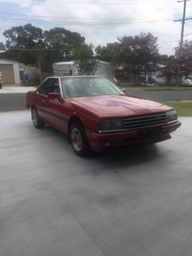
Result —
M101 131L122 130L122 129L125 129L125 123L123 118L100 119Z

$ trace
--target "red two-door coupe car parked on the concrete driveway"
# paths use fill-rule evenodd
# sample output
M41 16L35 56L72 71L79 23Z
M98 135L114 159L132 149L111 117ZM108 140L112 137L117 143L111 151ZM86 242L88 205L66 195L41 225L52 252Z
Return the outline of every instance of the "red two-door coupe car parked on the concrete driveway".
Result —
M49 77L26 94L26 107L36 128L48 123L68 134L79 156L168 140L181 125L175 109L129 96L101 76Z

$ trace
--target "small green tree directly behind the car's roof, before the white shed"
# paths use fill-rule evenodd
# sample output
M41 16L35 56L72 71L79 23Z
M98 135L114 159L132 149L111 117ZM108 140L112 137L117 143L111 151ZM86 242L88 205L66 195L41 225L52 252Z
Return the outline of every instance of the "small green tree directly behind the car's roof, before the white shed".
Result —
M80 49L74 52L73 60L79 74L83 75L94 75L99 65L93 56L92 44L82 44Z

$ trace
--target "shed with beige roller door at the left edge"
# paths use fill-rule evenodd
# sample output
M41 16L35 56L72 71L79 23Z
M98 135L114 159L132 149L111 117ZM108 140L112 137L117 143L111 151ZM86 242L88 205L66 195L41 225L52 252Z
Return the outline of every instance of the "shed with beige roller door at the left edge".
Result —
M0 59L3 84L20 84L19 62Z

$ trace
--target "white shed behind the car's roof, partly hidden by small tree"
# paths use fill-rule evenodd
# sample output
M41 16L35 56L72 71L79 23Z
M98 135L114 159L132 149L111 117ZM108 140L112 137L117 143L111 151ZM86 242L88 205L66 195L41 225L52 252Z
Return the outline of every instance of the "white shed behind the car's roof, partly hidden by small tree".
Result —
M53 64L54 76L74 76L79 75L77 68L74 65L74 61L62 61ZM99 67L95 73L96 76L104 75L109 78L113 78L114 71L113 65L110 62L99 61Z

